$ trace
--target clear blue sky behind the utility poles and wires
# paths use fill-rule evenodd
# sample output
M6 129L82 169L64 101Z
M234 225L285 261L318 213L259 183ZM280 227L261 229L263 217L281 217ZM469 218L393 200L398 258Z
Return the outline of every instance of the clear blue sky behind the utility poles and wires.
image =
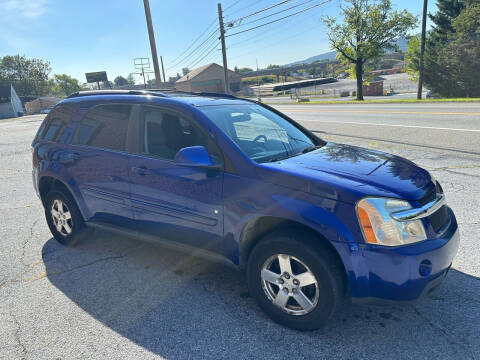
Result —
M221 1L225 22L229 23L281 0ZM306 1L292 0L270 13ZM302 8L320 2L310 0ZM420 20L422 0L392 2L395 8L407 9ZM222 63L220 47L215 47L214 37L199 49L202 51L189 56L203 38L215 31L217 3L218 0L150 0L157 52L163 56L167 79L181 72L182 67ZM330 51L326 29L320 19L325 15L338 16L341 3L341 0L331 0L305 13L243 34L233 35L297 10L252 25L227 28L228 67L256 68L258 61L258 66L263 68ZM429 12L434 11L434 1L430 0ZM206 35L185 52L204 31ZM420 24L413 32L419 31ZM0 57L15 54L48 60L52 74L66 73L81 82L85 82L86 72L93 71L107 71L109 80L118 75L126 77L135 72L134 58L151 58L143 1L0 0ZM139 82L140 77L136 80Z

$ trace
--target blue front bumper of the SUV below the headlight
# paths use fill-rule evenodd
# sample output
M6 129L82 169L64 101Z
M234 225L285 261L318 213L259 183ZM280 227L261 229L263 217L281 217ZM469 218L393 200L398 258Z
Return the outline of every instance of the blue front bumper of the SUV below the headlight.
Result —
M430 292L448 273L460 243L451 209L440 237L399 247L359 246L356 269L349 274L354 300L410 301Z

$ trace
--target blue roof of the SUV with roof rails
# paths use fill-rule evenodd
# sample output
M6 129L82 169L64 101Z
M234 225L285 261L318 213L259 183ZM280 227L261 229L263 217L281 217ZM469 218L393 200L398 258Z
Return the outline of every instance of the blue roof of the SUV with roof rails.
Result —
M62 103L69 102L130 102L146 101L157 103L181 103L190 106L241 105L252 104L251 100L228 94L189 93L172 90L98 90L80 91L71 94Z

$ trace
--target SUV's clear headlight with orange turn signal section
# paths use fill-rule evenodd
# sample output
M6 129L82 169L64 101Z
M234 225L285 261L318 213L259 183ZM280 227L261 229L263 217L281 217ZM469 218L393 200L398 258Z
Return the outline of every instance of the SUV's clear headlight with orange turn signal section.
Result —
M403 200L365 198L357 205L357 216L365 241L369 244L398 246L426 240L421 220L396 221L391 213L411 209Z

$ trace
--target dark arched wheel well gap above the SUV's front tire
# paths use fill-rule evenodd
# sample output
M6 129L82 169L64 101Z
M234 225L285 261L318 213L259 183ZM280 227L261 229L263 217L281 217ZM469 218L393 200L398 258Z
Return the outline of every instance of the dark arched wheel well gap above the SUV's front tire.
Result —
M345 279L347 277L347 272L345 270L345 265L343 264L340 255L338 254L335 247L328 241L324 236L319 234L314 229L301 224L296 221L286 220L271 216L264 216L258 219L254 219L250 221L244 228L242 232L242 236L240 239L240 267L245 268L248 257L250 256L253 248L257 245L262 238L273 230L278 230L281 228L288 228L288 229L298 229L299 231L310 233L312 236L311 238L318 240L317 245L321 244L325 246L329 251L331 251L332 255L335 256L335 260L342 266L344 269ZM315 244L312 244L315 246Z

